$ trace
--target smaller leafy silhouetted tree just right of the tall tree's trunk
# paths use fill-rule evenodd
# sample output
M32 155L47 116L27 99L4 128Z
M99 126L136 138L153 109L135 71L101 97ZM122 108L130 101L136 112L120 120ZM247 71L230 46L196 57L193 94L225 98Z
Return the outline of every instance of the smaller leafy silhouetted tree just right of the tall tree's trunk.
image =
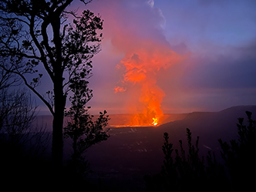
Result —
M88 113L86 103L92 98L92 90L87 87L88 81L79 79L79 76L71 80L70 88L73 93L69 100L72 106L66 111L69 117L68 125L64 127L64 136L72 139L72 160L69 161L72 170L79 175L86 172L89 163L83 157L83 153L96 143L107 140L109 135L103 128L107 125L109 116L106 111L99 113L99 117L93 120Z

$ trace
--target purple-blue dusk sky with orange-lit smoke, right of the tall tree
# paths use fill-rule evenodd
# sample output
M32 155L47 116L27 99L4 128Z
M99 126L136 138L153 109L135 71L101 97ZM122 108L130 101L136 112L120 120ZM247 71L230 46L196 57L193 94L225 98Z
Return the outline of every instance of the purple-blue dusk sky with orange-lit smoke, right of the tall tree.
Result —
M78 7L104 20L90 113L131 113L147 97L163 113L256 104L256 1L94 0L69 8Z

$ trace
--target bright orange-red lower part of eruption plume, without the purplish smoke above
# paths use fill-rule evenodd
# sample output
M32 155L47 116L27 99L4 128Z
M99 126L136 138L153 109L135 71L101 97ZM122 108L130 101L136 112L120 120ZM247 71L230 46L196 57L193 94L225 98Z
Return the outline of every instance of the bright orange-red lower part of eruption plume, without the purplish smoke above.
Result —
M157 73L160 68L167 69L180 60L180 55L167 45L157 42L140 41L140 47L126 52L126 56L117 65L118 68L125 68L122 83L139 84L141 92L138 98L141 105L133 106L133 103L129 103L131 113L136 114L127 126L157 126L160 123L163 118L161 103L165 94L157 86ZM115 93L123 91L126 88L116 86Z

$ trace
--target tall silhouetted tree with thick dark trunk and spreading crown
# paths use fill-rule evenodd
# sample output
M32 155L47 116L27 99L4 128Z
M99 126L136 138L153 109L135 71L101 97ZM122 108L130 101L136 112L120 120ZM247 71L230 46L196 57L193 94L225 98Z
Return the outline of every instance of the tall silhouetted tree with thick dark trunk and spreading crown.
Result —
M92 2L80 1L85 5ZM103 21L93 12L77 16L68 11L72 2L0 1L0 55L12 59L11 66L0 67L18 75L52 113L52 161L56 167L62 163L62 126L70 81L76 73L80 79L88 75L85 71L92 67L102 37L97 30L103 29ZM69 15L76 18L72 24ZM44 73L52 81L52 90L46 95L37 89Z

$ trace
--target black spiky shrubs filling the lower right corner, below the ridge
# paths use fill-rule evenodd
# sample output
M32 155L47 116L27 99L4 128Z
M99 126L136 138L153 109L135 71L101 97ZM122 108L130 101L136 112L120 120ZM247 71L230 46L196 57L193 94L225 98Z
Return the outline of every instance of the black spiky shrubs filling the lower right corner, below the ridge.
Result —
M256 121L251 112L246 112L248 126L238 118L238 140L230 143L221 139L221 157L225 164L217 163L214 153L206 158L199 157L198 142L192 144L192 136L187 129L188 153L179 140L180 150L173 150L168 133L163 133L163 166L160 174L147 175L147 191L250 191L254 188L256 164ZM175 156L173 158L173 151ZM206 160L206 162L205 162Z

